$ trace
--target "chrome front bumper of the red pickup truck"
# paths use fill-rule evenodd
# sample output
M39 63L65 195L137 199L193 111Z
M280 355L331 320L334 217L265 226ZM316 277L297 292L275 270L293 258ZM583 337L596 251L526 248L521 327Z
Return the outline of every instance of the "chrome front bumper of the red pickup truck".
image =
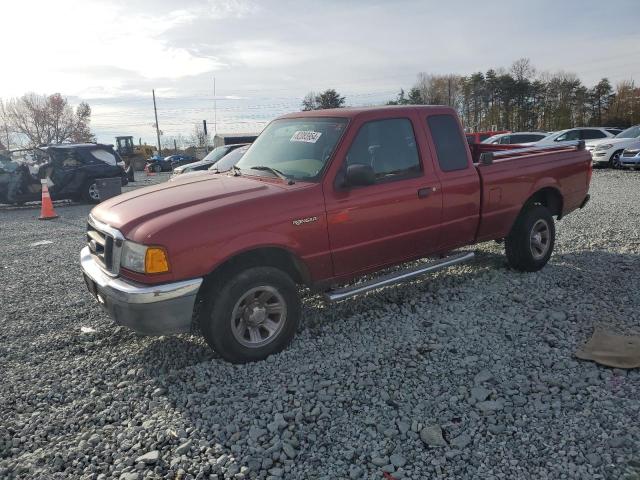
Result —
M107 275L85 247L80 265L89 292L113 320L145 335L191 330L201 278L162 285L143 285Z

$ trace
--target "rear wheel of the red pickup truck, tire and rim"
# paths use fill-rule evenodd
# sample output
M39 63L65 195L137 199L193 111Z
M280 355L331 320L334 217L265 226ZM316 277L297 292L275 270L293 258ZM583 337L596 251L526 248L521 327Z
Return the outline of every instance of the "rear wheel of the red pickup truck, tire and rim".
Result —
M549 261L555 240L556 229L549 210L542 205L526 208L505 239L509 265L522 272L537 272Z

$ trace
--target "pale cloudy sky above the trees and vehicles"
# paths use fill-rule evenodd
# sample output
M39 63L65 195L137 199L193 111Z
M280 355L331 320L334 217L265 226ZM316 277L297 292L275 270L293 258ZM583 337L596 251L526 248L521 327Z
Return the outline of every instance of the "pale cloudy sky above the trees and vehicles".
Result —
M469 74L529 57L591 86L640 81L638 0L5 0L0 97L61 92L98 140L155 141L194 122L259 130L310 90L384 102L418 72Z

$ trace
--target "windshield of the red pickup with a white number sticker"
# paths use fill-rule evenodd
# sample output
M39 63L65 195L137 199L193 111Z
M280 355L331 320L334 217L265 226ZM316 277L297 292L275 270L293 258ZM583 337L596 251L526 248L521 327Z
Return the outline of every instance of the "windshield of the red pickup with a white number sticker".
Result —
M316 181L347 125L346 118L287 118L271 122L237 163L269 167L295 180ZM273 176L268 170L252 175Z

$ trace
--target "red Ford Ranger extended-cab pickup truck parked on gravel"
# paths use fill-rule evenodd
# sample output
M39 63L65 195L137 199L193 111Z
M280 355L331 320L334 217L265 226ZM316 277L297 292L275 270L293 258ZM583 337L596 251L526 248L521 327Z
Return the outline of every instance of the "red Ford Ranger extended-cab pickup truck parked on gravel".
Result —
M84 278L117 323L145 334L197 325L225 359L263 359L292 339L301 285L341 300L469 260L445 255L501 239L513 268L542 268L553 217L589 199L591 157L578 142L505 147L467 145L447 107L285 115L232 171L95 207ZM422 257L437 260L357 282Z

